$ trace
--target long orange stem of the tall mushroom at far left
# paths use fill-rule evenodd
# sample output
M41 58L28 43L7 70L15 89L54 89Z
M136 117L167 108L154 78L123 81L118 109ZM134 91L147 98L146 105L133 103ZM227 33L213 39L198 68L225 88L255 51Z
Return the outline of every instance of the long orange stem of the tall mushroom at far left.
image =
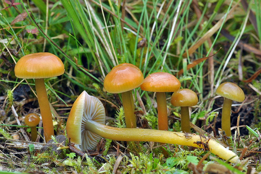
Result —
M35 79L35 88L43 121L44 138L47 142L49 139L51 139L51 135L54 135L54 130L52 124L52 114L44 85L44 79Z

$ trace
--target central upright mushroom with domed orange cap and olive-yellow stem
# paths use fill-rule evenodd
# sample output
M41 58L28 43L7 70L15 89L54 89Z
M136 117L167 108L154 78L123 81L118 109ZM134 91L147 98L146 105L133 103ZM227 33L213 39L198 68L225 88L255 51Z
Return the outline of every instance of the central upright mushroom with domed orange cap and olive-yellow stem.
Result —
M119 64L104 78L104 89L109 93L122 93L125 122L127 128L136 128L136 117L132 90L139 87L144 80L141 70L128 63Z

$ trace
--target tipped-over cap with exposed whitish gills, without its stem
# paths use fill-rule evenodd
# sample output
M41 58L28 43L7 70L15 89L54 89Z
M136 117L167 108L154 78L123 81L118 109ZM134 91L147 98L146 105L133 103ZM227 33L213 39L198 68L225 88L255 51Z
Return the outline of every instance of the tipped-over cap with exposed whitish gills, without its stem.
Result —
M85 129L87 119L105 124L105 109L97 97L83 91L73 103L66 123L68 138L71 138L71 142L80 144L81 150L93 149L101 138Z

